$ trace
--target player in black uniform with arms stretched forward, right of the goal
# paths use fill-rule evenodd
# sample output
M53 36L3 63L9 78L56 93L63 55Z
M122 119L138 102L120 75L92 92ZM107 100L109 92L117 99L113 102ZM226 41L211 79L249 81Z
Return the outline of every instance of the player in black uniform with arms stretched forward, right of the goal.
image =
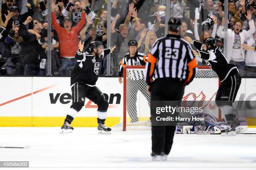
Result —
M192 43L197 51L193 51L194 55L204 60L220 78L220 87L216 94L216 104L221 112L225 115L225 121L230 124L230 129L221 131L223 136L233 136L236 132L243 129L235 115L236 110L233 109L233 102L241 84L241 77L235 65L230 64L219 47L215 46L215 39L206 38L203 43L192 41L191 38L185 37L189 43Z

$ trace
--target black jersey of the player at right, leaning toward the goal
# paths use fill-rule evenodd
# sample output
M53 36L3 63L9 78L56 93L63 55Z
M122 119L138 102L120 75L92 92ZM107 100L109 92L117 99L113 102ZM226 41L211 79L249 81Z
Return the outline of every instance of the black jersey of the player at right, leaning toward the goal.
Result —
M202 58L205 63L207 63L207 65L216 72L220 78L220 81L224 81L228 76L232 76L238 73L237 67L228 62L219 47L211 47L207 48L207 51L203 51L203 43L200 41L193 41L193 44L198 49L197 52L199 53L200 58Z

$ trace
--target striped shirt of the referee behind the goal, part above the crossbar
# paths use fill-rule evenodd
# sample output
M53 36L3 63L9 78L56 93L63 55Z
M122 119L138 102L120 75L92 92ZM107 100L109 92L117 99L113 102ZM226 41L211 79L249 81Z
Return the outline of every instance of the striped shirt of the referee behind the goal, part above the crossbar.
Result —
M146 59L147 59L146 54L140 53L138 51L133 57L130 57L130 53L125 54L125 56L119 63L118 76L121 77L123 75L123 67L125 66L145 66Z

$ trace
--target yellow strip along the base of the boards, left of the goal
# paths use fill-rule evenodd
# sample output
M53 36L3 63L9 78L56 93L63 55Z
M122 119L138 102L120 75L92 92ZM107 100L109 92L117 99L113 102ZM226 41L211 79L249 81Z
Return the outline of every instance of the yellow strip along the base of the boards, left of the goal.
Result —
M0 127L61 127L66 117L0 117ZM120 117L107 117L106 126L120 123ZM76 117L72 127L97 127L97 117Z

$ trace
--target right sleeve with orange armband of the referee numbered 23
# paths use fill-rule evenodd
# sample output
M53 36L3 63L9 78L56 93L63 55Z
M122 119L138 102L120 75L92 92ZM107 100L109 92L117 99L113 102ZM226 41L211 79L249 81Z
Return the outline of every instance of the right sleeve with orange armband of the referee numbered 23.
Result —
M197 61L194 54L192 53L192 48L190 44L187 46L187 79L185 80L185 85L188 85L195 77L197 71Z

